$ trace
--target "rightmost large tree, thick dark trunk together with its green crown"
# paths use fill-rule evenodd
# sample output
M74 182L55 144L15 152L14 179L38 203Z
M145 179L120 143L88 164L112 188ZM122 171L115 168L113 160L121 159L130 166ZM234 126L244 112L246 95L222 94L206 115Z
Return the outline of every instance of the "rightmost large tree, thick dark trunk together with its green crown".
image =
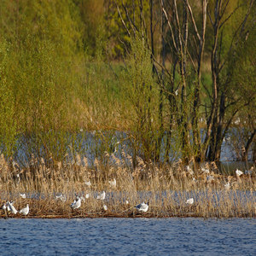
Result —
M204 154L207 160L219 160L226 132L236 113L247 105L241 96L233 95L234 77L230 67L236 61L236 49L252 32L253 0L231 4L229 0L211 1L208 17L212 26L212 95L207 114L207 133ZM231 23L231 24L230 24ZM226 35L226 36L224 36ZM244 52L245 53L245 52ZM230 62L231 61L231 62ZM238 71L241 73L241 71ZM232 107L232 108L231 108ZM235 108L234 108L235 107ZM230 113L229 113L230 111ZM209 142L209 144L207 143Z

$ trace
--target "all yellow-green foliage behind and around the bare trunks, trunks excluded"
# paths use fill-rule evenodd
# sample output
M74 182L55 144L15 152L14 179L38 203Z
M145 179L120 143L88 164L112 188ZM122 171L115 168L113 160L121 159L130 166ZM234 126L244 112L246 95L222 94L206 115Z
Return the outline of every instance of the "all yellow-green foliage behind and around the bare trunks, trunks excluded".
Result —
M116 3L131 36L120 19ZM210 15L214 14L214 4L215 1L209 1ZM167 13L172 15L171 7L172 4L166 4ZM200 32L200 1L191 3L191 7ZM177 3L177 9L180 24L183 24L182 2ZM230 16L234 9L236 12ZM158 61L162 47L160 10L160 4L154 2L154 57ZM218 104L224 92L224 106L228 106L224 122L238 109L237 115L250 119L250 127L253 127L255 30L249 28L253 33L242 44L239 37L246 38L246 35L237 33L233 40L246 12L246 4L230 1L222 17L225 20L230 16L218 35L219 67L224 64L218 73ZM149 1L2 0L0 16L0 137L5 154L15 154L15 147L20 146L17 142L25 136L29 154L52 155L61 160L68 145L75 151L82 148L76 142L77 131L81 128L96 130L102 140L102 145L94 145L96 155L105 150L110 152L116 130L128 131L134 154L143 155L146 160L160 154L160 142L165 139L167 149L178 149L176 151L183 155L196 154L199 150L198 144L189 145L193 141L189 130L193 126L197 84L200 84L201 103L195 118L207 117L212 108L209 59L214 38L209 19L201 81L192 64L192 61L196 63L198 45L189 18L188 51L183 55L185 75L180 72L179 53L177 65L174 64L176 53L166 33L168 73L160 87L160 80L157 83L153 73L150 52ZM251 16L248 21L253 24ZM175 20L171 26L177 33ZM168 29L165 24L165 30ZM123 57L125 63L116 61ZM157 67L160 74L160 66ZM206 125L201 123L196 129ZM108 130L108 135L103 130ZM170 132L169 138L163 136L165 131ZM171 145L173 140L175 146ZM176 145L180 148L175 148Z

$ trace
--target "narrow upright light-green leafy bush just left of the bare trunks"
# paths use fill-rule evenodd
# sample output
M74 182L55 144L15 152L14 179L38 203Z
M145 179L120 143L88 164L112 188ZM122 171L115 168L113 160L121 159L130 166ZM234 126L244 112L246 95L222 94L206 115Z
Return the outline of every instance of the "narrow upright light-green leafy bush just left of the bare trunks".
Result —
M160 124L158 120L159 88L152 73L150 53L140 38L131 40L123 86L125 105L131 106L127 118L131 119L131 134L136 152L146 160L155 154Z

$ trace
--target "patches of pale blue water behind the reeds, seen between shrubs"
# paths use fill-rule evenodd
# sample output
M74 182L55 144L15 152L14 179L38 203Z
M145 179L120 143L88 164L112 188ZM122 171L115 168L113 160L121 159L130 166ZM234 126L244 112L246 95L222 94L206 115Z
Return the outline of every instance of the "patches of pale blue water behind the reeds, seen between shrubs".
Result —
M44 156L44 146L38 146L34 142L34 137L24 137L20 136L18 139L17 145L19 145L18 150L15 154L15 160L21 164L28 163L31 160L31 154L34 156L40 157ZM81 158L84 156L89 160L89 165L93 165L94 160L101 156L106 150L109 151L111 148L115 156L122 158L122 150L125 151L125 154L133 154L131 137L127 133L122 131L82 131L78 133L67 133L67 136L64 136L65 145L64 148L65 154L69 157L69 160L74 161L76 153L79 153ZM162 138L162 143L160 146L160 161L165 160L166 156L166 138ZM58 143L55 143L55 150L58 151ZM1 145L1 144L0 144ZM33 147L32 147L33 145ZM179 147L175 146L176 142L172 141L172 147L169 148L169 160L177 160L181 153ZM39 147L39 148L37 148ZM1 147L0 147L1 148ZM54 151L55 152L55 151ZM140 154L137 152L137 154ZM234 168L239 168L242 171L249 169L253 166L253 162L241 162L236 161L236 152L234 148L231 147L230 143L223 142L221 148L220 162L218 163L219 170L221 172L230 173ZM252 159L252 150L249 150L248 159ZM22 165L21 165L22 166Z

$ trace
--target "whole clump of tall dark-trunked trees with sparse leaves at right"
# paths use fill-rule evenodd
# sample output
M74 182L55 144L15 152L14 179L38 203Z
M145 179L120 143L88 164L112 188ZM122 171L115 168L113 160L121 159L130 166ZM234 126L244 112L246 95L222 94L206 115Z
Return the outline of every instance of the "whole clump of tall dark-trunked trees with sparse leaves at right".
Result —
M253 16L253 1L234 4L229 0L202 0L191 5L187 0L173 0L161 1L161 8L168 24L166 44L172 55L171 90L166 91L175 106L172 111L176 112L183 158L219 160L225 133L241 108L241 101L232 100L229 63L235 56L230 55L246 39L244 32L252 30L253 19L249 17ZM207 55L211 55L210 86L201 79ZM205 91L207 97L202 98ZM234 105L232 110L230 106ZM203 117L207 123L200 131L198 124Z

